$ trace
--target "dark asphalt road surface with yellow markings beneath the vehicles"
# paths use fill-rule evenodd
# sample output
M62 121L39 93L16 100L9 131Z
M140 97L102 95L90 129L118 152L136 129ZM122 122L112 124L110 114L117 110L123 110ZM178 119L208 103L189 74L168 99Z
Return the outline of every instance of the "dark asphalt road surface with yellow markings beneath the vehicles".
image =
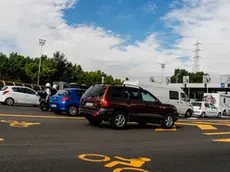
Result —
M229 152L229 118L114 130L34 107L0 106L1 172L229 172Z

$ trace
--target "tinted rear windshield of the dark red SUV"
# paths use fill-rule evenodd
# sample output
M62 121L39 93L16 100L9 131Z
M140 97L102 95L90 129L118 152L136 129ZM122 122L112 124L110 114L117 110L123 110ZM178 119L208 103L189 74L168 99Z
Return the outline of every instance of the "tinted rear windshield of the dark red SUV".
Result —
M102 97L105 93L107 86L106 85L94 85L91 86L86 92L83 94L82 98L86 97Z

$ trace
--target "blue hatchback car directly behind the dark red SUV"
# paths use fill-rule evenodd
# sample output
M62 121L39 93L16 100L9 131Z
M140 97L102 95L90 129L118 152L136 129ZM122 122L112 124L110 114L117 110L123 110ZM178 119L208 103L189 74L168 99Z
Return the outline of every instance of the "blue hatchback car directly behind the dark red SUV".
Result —
M86 90L81 88L67 88L59 90L50 98L50 109L56 114L62 112L68 113L70 116L78 114L81 96Z

